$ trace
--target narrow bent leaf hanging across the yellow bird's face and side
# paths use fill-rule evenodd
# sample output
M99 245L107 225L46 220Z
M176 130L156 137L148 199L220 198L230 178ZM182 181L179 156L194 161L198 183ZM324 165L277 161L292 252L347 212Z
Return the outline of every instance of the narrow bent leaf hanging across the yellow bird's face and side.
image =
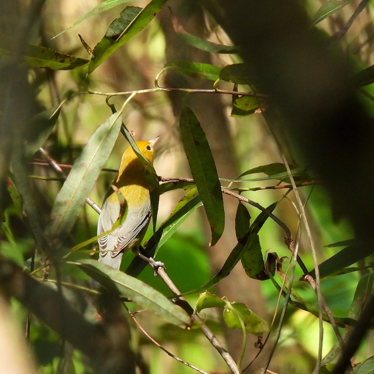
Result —
M151 165L151 163L143 156L143 154L139 150L137 144L135 143L134 139L130 135L126 126L122 125L121 132L122 132L122 135L126 138L126 140L130 143L132 149L134 150L135 154L138 156L138 159L140 160L140 162L145 168L145 177L147 178L147 182L150 187L149 196L151 199L153 232L156 232L157 212L159 209L159 201L160 201L159 177L156 171L154 170L153 165Z

